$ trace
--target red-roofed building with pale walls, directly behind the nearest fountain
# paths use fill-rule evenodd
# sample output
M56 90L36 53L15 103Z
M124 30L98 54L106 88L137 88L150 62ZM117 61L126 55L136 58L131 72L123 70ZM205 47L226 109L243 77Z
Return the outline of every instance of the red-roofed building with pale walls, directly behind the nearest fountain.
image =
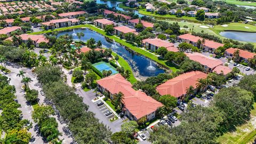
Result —
M173 43L166 42L159 38L147 38L142 40L142 44L146 49L157 50L159 47L165 47L168 51L178 52L179 49L174 47Z

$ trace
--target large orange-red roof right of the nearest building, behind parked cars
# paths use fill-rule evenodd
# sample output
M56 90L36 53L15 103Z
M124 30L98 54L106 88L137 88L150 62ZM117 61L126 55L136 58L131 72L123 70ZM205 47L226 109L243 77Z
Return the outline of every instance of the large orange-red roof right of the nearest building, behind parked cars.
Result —
M156 87L156 90L161 95L170 94L173 97L180 97L186 94L186 89L191 85L196 88L197 80L199 78L206 78L207 75L201 71L191 71L189 73L181 74L177 77Z

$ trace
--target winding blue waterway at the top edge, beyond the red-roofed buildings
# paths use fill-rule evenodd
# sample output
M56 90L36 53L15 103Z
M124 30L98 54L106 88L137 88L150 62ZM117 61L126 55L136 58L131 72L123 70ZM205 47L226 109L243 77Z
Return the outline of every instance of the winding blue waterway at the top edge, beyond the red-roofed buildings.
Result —
M118 5L121 4L122 2L96 0L96 3L97 4L106 4L106 5L108 5L108 7L115 7L116 10L119 10L119 11L132 11L132 12L134 12L134 14L138 14L139 17L145 16L143 14L140 14L137 10L124 10L124 9L120 8Z

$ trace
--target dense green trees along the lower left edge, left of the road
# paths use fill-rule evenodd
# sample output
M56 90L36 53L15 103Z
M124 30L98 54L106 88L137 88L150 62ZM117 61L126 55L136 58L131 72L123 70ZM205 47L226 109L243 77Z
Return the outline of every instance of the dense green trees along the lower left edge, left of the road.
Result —
M0 139L0 143L28 143L31 124L27 119L22 119L22 112L18 109L20 104L14 100L15 87L9 83L8 77L0 75L0 130L7 134Z

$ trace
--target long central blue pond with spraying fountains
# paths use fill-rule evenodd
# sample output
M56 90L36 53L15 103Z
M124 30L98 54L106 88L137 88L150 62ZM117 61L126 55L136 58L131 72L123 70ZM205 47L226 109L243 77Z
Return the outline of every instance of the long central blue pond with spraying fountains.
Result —
M86 42L87 39L94 38L95 41L101 41L102 47L110 48L122 58L124 58L132 68L133 75L138 79L145 79L150 76L157 76L160 73L164 73L164 69L159 68L154 61L144 57L143 55L138 55L133 51L126 50L124 46L119 43L111 43L106 40L106 38L99 33L92 31L90 29L74 29L75 33L83 32L84 37L82 41ZM72 35L73 30L62 31L57 37L65 34ZM73 35L75 40L79 40L76 35Z

